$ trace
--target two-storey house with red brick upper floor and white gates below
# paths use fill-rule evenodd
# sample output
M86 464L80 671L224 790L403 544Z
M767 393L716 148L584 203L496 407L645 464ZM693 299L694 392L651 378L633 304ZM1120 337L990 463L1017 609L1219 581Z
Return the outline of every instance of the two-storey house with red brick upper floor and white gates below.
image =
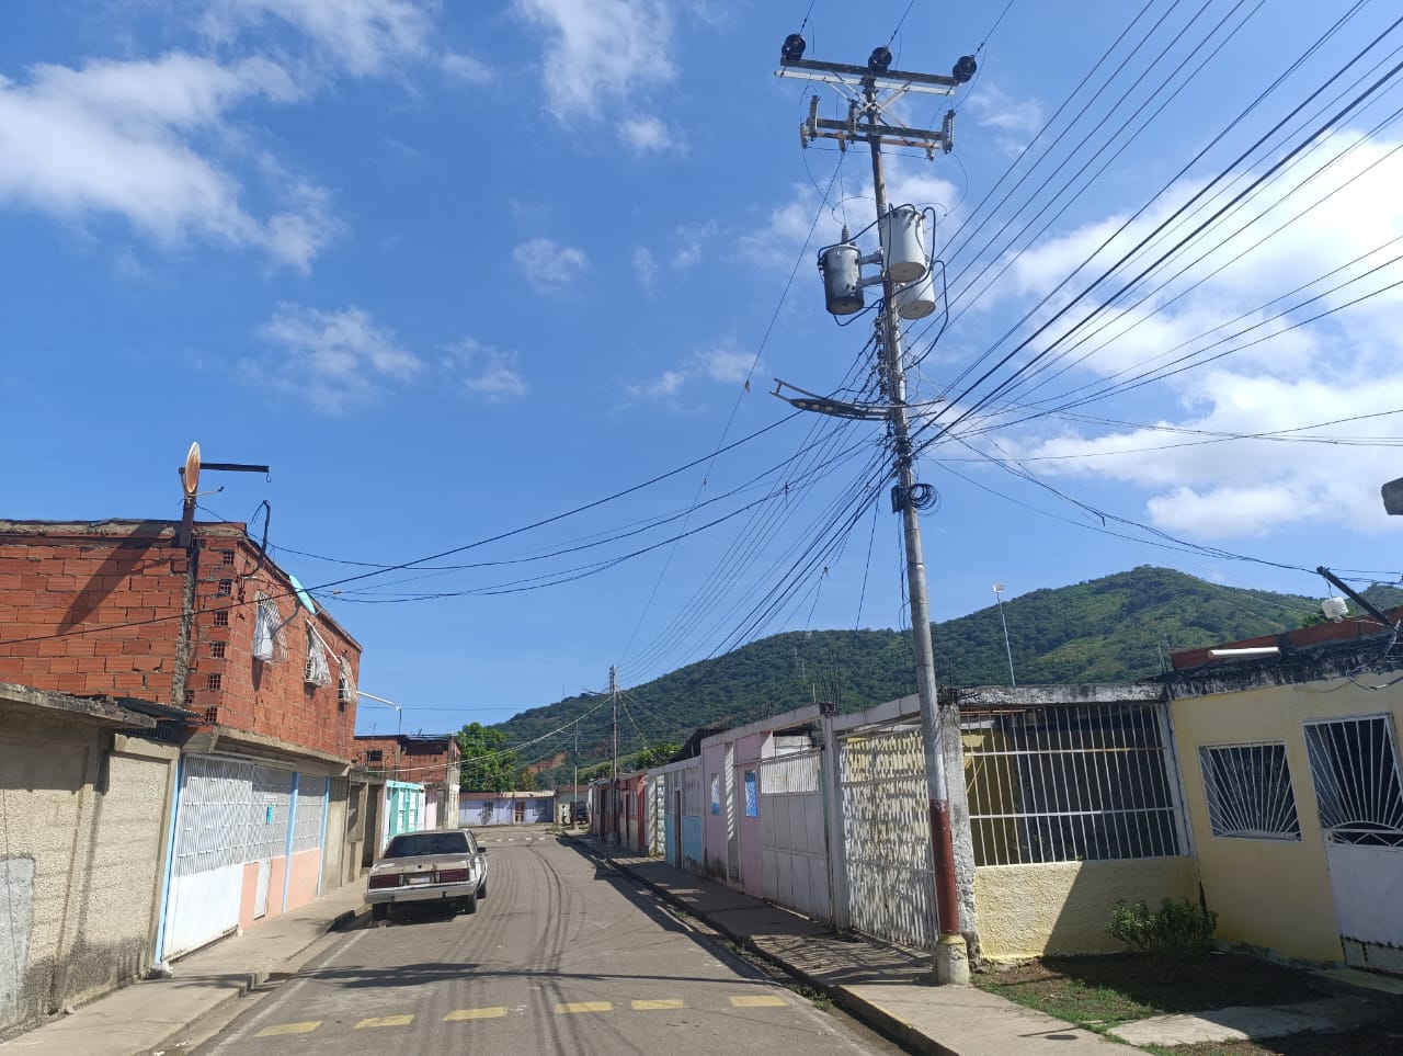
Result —
M0 521L0 680L159 713L180 748L152 956L355 868L361 646L241 524Z

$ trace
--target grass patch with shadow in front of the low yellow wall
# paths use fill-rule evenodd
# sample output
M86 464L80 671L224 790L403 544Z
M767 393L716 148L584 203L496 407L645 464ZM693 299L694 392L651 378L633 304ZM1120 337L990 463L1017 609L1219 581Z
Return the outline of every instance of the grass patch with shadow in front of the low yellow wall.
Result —
M1045 958L976 973L975 986L1092 1031L1166 1012L1201 1012L1237 1004L1308 1001L1322 982L1292 968L1237 953L1214 955L1173 983L1155 977L1134 955Z

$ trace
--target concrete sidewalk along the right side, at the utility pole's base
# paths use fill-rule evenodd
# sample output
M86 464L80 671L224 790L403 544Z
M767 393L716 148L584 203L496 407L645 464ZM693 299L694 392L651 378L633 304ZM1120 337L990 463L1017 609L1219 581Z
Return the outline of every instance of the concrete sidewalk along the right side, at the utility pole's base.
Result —
M839 938L720 883L593 837L588 854L631 873L679 909L783 968L911 1052L940 1056L1124 1053L1124 1045L972 986L932 986L929 959L895 946Z

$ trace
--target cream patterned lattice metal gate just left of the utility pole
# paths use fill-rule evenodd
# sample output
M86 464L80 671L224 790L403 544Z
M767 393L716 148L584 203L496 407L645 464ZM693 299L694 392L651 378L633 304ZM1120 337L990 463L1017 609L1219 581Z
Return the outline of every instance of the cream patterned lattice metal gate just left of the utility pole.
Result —
M853 927L888 942L934 949L940 931L920 730L845 737L838 774Z

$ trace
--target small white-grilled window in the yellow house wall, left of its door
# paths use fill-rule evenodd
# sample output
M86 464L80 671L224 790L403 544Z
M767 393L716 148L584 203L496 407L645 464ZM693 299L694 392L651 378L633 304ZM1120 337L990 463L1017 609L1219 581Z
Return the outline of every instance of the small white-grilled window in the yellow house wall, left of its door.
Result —
M1214 836L1299 840L1287 746L1222 744L1198 748Z

